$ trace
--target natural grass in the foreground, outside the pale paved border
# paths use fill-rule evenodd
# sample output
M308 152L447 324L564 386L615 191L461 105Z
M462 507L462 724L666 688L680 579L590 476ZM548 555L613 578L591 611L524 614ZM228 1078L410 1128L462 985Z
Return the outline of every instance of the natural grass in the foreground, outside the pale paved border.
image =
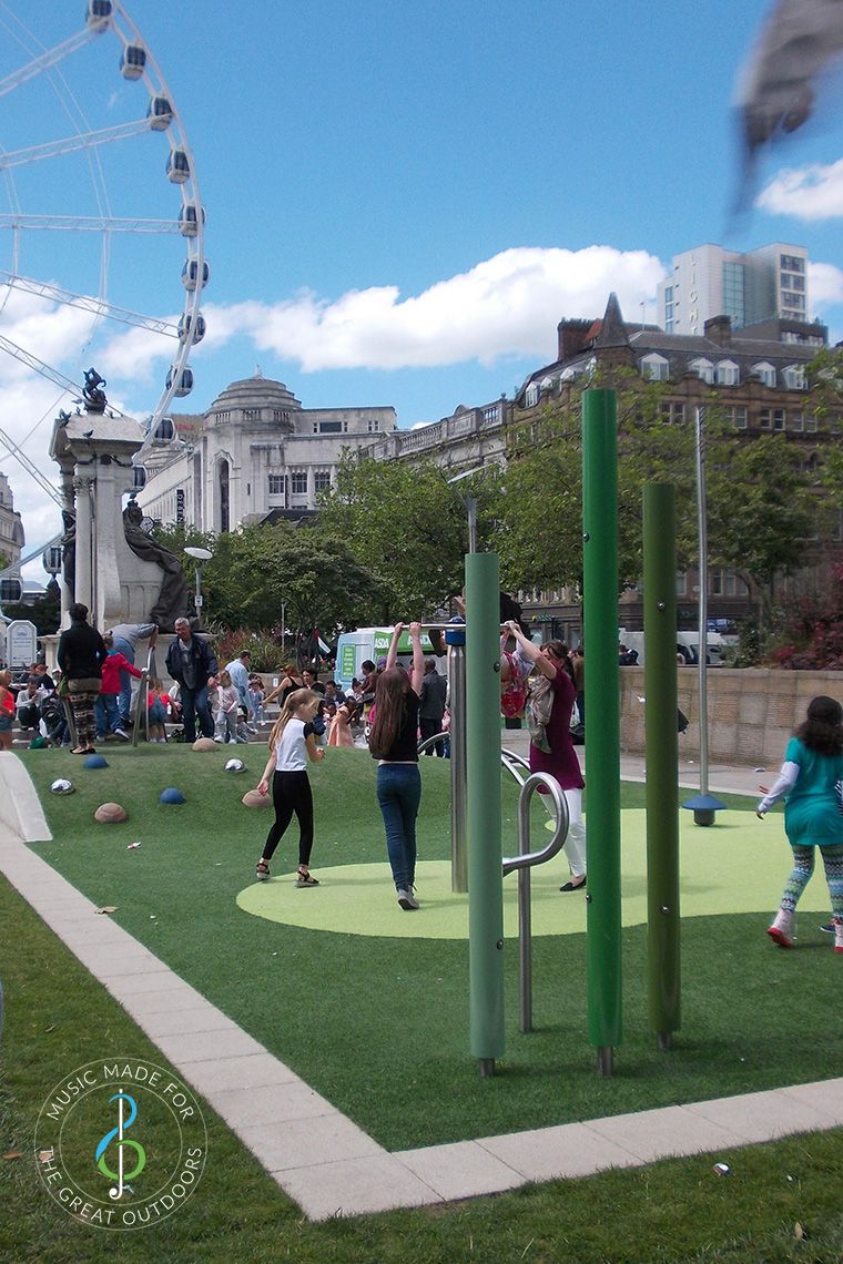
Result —
M167 1221L111 1236L64 1215L35 1174L44 1095L106 1049L159 1059L147 1036L0 880L6 1028L0 1069L0 1259L49 1264L832 1264L843 1251L843 1133L808 1134L494 1198L312 1225L205 1106L209 1160ZM6 1155L20 1154L20 1158ZM732 1167L717 1177L715 1160ZM796 1237L796 1226L803 1237Z

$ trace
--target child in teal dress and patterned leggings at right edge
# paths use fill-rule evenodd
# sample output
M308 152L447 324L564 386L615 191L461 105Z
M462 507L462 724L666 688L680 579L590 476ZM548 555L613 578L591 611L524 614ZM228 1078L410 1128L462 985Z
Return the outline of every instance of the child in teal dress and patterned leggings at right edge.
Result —
M819 847L832 897L834 952L843 953L843 708L833 698L814 698L808 718L787 743L776 784L758 804L763 815L785 795L785 833L794 849L794 868L781 908L767 934L781 948L792 948L796 902L814 872Z

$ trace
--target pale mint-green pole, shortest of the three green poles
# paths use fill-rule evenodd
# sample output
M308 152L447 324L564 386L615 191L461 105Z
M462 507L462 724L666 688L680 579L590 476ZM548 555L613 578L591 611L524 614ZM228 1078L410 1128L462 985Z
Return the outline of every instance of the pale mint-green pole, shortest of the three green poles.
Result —
M480 1074L503 1057L503 867L500 849L500 565L465 559L465 694L471 1053Z

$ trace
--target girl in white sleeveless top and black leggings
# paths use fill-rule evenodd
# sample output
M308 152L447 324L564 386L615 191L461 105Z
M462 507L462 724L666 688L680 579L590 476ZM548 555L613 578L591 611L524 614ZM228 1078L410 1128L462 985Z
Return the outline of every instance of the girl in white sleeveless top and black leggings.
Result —
M320 695L312 689L296 689L284 699L281 715L269 734L270 753L264 774L258 782L258 793L268 794L269 775L272 774L272 801L276 809L276 820L267 834L263 856L255 868L255 877L259 882L268 880L269 861L294 813L298 819L296 886L318 886L308 867L313 848L313 795L307 777L307 761L316 763L325 758L325 751L316 744L312 726L320 702Z

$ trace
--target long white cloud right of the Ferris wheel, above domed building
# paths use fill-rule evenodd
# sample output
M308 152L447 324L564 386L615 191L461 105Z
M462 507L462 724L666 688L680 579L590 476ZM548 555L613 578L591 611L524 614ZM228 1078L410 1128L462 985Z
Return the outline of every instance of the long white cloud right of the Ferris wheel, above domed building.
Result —
M622 308L637 313L664 270L643 250L522 246L406 298L396 286L380 286L335 300L302 292L278 303L209 306L205 346L245 334L306 373L492 364L546 354L560 317L602 315L612 289Z

